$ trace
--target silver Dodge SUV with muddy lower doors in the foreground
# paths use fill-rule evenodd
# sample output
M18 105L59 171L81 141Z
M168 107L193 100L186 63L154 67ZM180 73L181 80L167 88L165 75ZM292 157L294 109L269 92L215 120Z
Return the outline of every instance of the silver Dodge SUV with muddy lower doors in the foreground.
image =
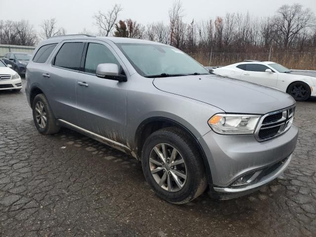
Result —
M27 67L41 134L69 127L141 160L161 197L185 203L249 194L280 175L296 146L295 101L210 73L169 45L90 36L42 41Z

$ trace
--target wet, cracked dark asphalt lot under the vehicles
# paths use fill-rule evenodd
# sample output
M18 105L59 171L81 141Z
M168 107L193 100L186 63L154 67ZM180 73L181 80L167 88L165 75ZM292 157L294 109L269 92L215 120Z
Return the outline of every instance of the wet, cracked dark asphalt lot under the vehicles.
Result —
M134 158L68 129L40 135L24 90L0 91L0 236L316 236L316 99L294 123L293 160L268 186L173 205Z

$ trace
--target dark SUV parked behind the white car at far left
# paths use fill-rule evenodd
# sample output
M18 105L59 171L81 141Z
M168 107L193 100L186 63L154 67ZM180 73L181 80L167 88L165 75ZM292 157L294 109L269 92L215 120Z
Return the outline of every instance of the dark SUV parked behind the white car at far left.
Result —
M7 65L11 65L12 69L18 74L25 74L26 66L29 63L31 56L30 53L10 52L4 55L3 61Z

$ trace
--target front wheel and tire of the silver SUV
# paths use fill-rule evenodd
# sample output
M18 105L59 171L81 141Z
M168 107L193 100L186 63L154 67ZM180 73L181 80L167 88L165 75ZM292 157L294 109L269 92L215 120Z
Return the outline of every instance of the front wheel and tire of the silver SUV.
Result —
M168 165L167 168L164 168L165 171L162 169L152 174L152 172L156 172L158 168L165 167L160 164L157 165L157 167L155 166L156 162L161 162L162 159L160 158L160 160L158 160L158 153L154 151L154 148L159 149L159 147L161 147L162 150L162 144L166 148L165 153L168 154L166 157L170 159L168 160L167 158L166 161L169 161L170 164L165 164ZM184 164L181 163L172 166L173 163L176 164L174 161L171 162L172 149L176 149L178 152L174 161L179 163L181 162L181 158L183 158ZM153 159L155 163L153 163ZM201 195L207 187L205 169L196 146L184 131L176 127L160 129L147 138L142 150L142 168L147 182L156 195L171 203L183 204L192 201ZM180 171L182 175L184 173L186 174L186 179L176 176L179 178L178 182L180 181L183 184L181 188L176 184L173 178L174 172L177 171ZM154 177L154 175L156 176ZM166 185L158 185L163 175L167 177L164 182ZM170 186L168 185L168 176ZM160 177L161 179L159 180Z

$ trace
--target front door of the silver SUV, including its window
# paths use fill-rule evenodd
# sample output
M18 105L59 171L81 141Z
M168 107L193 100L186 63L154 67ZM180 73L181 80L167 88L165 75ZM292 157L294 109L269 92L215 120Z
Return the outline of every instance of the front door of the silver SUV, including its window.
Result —
M130 81L119 82L95 75L97 66L102 63L117 64L120 74L127 72L125 66L111 46L98 40L87 42L82 60L83 77L77 78L76 84L79 126L125 144L126 93Z

